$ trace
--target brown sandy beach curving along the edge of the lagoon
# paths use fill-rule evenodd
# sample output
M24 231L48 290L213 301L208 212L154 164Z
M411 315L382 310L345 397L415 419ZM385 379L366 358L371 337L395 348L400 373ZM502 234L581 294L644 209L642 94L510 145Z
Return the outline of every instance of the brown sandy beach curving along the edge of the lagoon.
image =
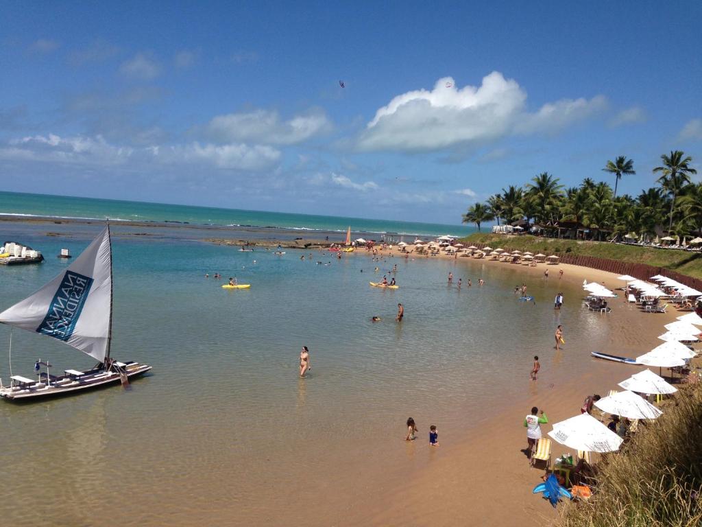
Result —
M356 252L357 255L366 253ZM383 252L380 252L383 254ZM397 249L385 251L404 257ZM411 257L424 258L410 254ZM437 259L453 259L456 267L467 267L475 271L478 266L503 266L518 268L522 273L543 275L548 268L549 280L554 291L559 280L581 285L588 282L604 282L607 287L621 287L623 282L612 273L572 265L549 265L536 267L515 265L491 259L440 255ZM564 271L559 279L559 269ZM458 276L458 273L454 272ZM472 272L475 276L475 272ZM475 282L475 279L474 279ZM583 295L584 296L584 295ZM572 299L568 309L579 309L580 299ZM635 357L661 344L656 337L664 332L663 325L684 314L673 308L668 313L644 313L636 306L626 304L623 299L613 299L614 311L607 315L592 313L593 317L609 317L609 351L623 356ZM550 337L550 335L549 335ZM588 343L571 343L564 353L564 361L574 353L589 355ZM463 438L440 447L441 455L426 469L406 474L405 483L399 490L378 496L378 500L367 503L362 512L348 523L364 525L455 526L457 524L494 526L538 526L549 525L558 517L548 501L531 493L540 483L543 470L530 469L529 462L521 452L526 446L526 432L522 426L524 415L532 406L543 408L550 423L573 417L580 412L585 396L592 393L606 395L616 384L643 367L611 363L590 359L586 371L572 371L567 379L553 384L538 380L521 398L506 401L489 411L494 415L488 422L472 428ZM541 376L542 379L544 375ZM550 431L550 424L542 425L543 434ZM569 452L569 448L553 443L553 457Z

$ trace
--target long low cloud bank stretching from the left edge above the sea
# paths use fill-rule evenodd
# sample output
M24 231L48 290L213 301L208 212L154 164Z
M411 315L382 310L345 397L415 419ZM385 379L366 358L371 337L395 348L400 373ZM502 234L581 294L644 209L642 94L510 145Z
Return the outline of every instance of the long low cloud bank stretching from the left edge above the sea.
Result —
M114 166L130 163L145 169L154 164L203 164L237 171L263 171L275 167L281 152L266 145L187 145L133 148L113 145L102 136L29 136L0 146L0 159Z

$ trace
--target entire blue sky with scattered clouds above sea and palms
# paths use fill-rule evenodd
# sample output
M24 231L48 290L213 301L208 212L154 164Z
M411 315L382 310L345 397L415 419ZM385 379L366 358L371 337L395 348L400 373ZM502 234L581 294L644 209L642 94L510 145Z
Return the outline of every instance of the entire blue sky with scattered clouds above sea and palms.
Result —
M702 174L701 25L697 0L5 0L0 188L455 224L625 155L637 195L670 150Z

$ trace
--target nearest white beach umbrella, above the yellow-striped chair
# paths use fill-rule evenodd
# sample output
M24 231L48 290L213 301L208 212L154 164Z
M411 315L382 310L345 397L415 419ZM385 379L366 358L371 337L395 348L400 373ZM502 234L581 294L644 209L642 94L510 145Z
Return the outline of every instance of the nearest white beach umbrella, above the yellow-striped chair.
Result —
M548 435L568 448L586 452L614 452L623 441L590 414L576 415L558 422Z

